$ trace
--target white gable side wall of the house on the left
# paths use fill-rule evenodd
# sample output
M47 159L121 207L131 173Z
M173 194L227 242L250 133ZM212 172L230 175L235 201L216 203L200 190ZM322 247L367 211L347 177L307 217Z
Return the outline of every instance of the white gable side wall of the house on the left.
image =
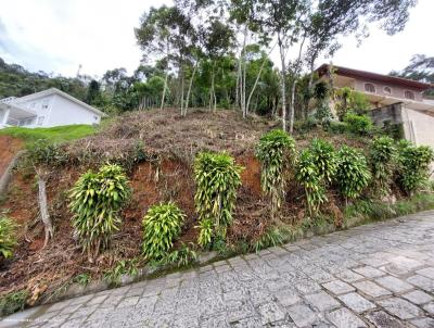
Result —
M59 94L53 96L53 103L50 111L47 127L69 125L69 124L99 124L101 117L81 105L63 98Z

